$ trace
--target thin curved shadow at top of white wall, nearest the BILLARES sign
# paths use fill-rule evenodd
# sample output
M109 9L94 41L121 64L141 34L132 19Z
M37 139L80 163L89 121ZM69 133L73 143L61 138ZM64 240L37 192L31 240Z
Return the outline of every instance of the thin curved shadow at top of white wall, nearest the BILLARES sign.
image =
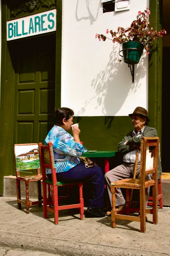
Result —
M90 24L92 25L97 20L100 5L101 0L78 0L76 5L76 20L90 20Z

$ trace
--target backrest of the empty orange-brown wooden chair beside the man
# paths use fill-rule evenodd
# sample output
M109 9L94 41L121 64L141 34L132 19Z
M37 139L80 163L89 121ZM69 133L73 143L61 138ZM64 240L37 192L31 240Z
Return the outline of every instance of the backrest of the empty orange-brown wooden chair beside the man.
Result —
M153 173L152 180L157 181L159 157L159 137L141 138L140 184L143 185L145 176Z

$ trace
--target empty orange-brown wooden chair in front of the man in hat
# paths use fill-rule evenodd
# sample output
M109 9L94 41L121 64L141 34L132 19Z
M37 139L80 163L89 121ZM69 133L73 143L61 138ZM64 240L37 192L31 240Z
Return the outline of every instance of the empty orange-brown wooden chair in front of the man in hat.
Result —
M111 183L112 192L112 223L116 228L116 219L139 221L140 231L146 231L145 213L153 214L153 224L158 223L158 204L157 204L157 186L158 186L158 155L159 155L159 138L142 137L141 138L141 159L140 159L140 179L124 179ZM152 180L145 180L145 175L152 174ZM145 188L152 186L153 207L145 209ZM115 188L126 188L125 209L116 211ZM130 207L130 189L140 190L140 208ZM140 212L140 217L130 216L130 212ZM127 215L122 215L126 213Z

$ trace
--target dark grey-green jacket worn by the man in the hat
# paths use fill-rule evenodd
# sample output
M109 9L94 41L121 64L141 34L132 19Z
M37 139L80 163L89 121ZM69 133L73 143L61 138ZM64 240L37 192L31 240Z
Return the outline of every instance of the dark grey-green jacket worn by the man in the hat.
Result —
M133 137L133 131L129 132L121 142L118 144L118 152L121 152L123 155L134 150L133 145L140 146L142 137L157 137L157 130L155 128L145 126L144 131L141 137ZM124 145L125 141L128 140L128 145ZM158 179L162 173L162 167L160 163L160 157L158 160Z

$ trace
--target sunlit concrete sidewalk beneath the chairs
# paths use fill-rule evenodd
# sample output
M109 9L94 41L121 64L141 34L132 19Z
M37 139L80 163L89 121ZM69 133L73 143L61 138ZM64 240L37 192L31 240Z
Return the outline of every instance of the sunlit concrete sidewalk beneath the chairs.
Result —
M0 197L0 246L37 250L69 256L170 255L170 208L158 210L158 224L152 215L146 223L146 233L140 233L140 223L117 220L111 227L111 217L84 218L59 212L59 225L52 213L43 218L43 208L33 206L26 214L17 209L13 197Z

